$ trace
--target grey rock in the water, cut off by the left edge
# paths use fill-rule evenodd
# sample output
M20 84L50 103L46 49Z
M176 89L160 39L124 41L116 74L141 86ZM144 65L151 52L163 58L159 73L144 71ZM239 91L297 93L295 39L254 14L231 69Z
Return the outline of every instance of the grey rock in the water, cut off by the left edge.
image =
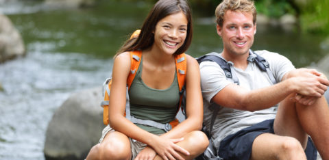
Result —
M21 34L7 16L0 14L0 63L21 55L25 55Z

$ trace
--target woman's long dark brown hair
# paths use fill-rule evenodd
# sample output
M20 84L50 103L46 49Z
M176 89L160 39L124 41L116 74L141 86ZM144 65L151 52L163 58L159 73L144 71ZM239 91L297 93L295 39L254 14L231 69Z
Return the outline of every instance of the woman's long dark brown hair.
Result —
M117 56L120 53L125 51L134 51L138 49L147 49L154 43L154 34L153 31L156 29L156 24L162 18L169 16L171 14L175 14L178 12L183 12L187 19L187 31L186 31L186 39L184 44L180 46L180 48L175 51L174 54L182 54L191 44L193 27L192 27L192 18L191 18L191 10L188 3L185 0L159 0L152 10L149 12L147 18L145 19L143 26L141 28L141 34L137 38L132 38L127 40L123 46L119 49ZM114 56L114 57L115 57Z

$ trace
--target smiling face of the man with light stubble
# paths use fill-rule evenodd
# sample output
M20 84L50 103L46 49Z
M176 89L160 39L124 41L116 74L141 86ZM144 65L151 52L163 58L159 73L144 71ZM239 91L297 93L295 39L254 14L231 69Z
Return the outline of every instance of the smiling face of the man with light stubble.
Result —
M217 34L223 39L225 54L234 56L249 53L256 34L256 24L252 19L252 13L226 11L223 27L217 25Z

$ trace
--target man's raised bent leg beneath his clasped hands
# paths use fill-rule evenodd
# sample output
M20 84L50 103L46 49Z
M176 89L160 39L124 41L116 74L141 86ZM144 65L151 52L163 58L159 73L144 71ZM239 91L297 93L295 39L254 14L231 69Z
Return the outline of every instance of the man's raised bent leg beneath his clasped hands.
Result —
M279 105L274 122L275 133L295 137L304 148L308 134L321 157L329 159L329 108L326 99L322 96L313 105L305 106L290 101L291 96Z

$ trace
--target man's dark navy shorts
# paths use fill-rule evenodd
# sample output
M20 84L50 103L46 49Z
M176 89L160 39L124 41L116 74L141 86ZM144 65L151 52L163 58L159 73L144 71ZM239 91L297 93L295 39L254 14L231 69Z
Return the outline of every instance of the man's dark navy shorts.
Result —
M273 122L274 120L265 120L235 134L228 135L221 141L219 157L230 160L248 160L252 154L254 139L262 133L274 133ZM305 153L308 160L317 159L317 148L315 148L310 137L308 137Z

